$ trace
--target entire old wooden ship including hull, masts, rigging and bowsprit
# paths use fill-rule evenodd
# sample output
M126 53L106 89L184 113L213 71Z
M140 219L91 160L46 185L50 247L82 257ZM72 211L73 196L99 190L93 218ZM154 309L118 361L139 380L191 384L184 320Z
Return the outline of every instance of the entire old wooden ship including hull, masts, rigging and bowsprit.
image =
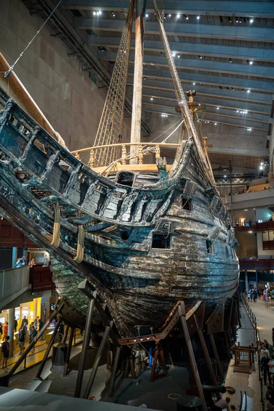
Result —
M140 16L143 18L145 12L138 7L143 3L136 2L137 92L133 93L132 133L138 138L142 99ZM188 139L179 144L169 173L159 159L154 175L137 175L129 169L110 178L94 169L99 165L108 169L119 161L119 151L109 146L121 141L134 0L129 4L95 138L97 147L104 147L98 164L92 160L92 150L87 166L64 147L61 138L56 141L54 130L33 101L28 111L38 122L0 89L1 213L49 251L56 289L79 314L86 313L88 297L77 286L88 279L98 292L101 306L106 303L103 310L114 320L121 338L137 335L136 328L140 327L144 333L147 327L151 334L160 331L178 301L184 301L188 312L198 301L204 301L210 316L238 286L234 231L227 222L228 214L216 190L193 113L188 110L162 14L155 0L153 3L188 134ZM5 71L7 65L1 64L1 70ZM11 68L5 77L9 75L10 84L15 83L14 88L26 96ZM24 103L29 101L29 97L24 99ZM127 158L123 155L122 163Z

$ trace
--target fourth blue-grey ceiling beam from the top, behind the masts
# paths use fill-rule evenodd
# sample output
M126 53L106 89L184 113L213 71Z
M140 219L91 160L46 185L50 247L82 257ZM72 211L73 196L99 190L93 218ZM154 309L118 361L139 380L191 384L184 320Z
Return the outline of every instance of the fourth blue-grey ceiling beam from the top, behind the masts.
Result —
M116 53L114 51L97 52L101 60L115 61ZM129 63L134 64L133 56L129 55ZM144 55L144 65L167 67L168 63L165 56L161 55ZM274 70L271 66L250 66L249 64L229 64L226 62L216 62L210 60L176 58L177 69L188 69L198 71L211 71L212 73L225 73L228 75L247 75L262 78L274 79ZM243 80L244 82L244 80Z

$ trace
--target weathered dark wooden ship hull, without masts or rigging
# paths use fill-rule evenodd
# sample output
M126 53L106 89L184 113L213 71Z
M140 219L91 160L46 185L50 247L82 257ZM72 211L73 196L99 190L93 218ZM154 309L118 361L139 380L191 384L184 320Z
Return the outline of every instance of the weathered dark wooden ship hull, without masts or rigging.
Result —
M86 277L108 303L122 337L136 325L154 330L179 300L208 310L238 284L233 229L216 188L206 178L192 138L173 177L128 187L95 173L61 147L1 90L0 197L3 215L55 256L58 292L80 312ZM143 179L142 177L142 184ZM191 210L183 208L191 201ZM61 211L60 247L51 245L53 204ZM75 215L79 217L75 217ZM79 225L84 260L77 263ZM153 236L170 239L155 249ZM163 238L163 237L162 237ZM210 253L208 251L213 251Z

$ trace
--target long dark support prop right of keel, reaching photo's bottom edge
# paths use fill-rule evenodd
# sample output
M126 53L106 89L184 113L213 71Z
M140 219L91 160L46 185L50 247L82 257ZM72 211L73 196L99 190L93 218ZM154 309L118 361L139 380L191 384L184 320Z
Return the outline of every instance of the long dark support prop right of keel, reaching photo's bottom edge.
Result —
M203 395L203 387L201 385L201 379L200 379L199 372L198 372L198 369L197 369L195 355L194 355L194 352L193 352L193 347L192 347L191 340L190 340L190 335L189 335L189 332L188 332L188 325L186 323L186 311L185 311L184 303L182 301L181 301L181 303L178 307L178 310L179 310L179 316L180 316L182 327L183 327L184 338L186 340L186 347L188 349L188 356L189 356L189 360L190 360L190 366L191 366L193 376L195 378L195 383L196 383L196 387L197 387L197 390L198 390L198 395L201 398L201 400L203 401L203 411L207 411L208 408L206 406L206 399L205 399L205 396Z

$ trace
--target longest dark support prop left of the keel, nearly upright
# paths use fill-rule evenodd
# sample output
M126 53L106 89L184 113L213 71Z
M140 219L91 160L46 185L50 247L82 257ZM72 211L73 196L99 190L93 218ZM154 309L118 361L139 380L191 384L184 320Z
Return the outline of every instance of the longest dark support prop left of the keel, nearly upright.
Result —
M96 292L93 293L93 298L90 299L90 302L88 303L88 314L86 316L85 334L84 334L81 356L79 360L79 369L78 369L78 374L77 374L77 381L76 381L75 395L74 395L74 397L77 397L77 398L79 398L81 395L83 375L84 375L84 366L86 363L86 352L88 350L88 344L90 342L90 328L91 328L91 322L92 322L92 316L93 316L93 309L95 306L95 298L96 298Z

